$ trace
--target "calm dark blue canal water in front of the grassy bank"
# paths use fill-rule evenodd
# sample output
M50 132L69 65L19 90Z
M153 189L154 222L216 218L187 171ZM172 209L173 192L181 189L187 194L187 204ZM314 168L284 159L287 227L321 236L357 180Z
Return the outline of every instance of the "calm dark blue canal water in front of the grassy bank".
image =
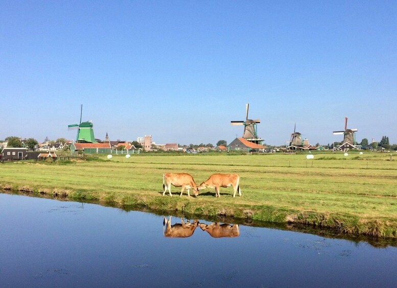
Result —
M244 225L234 237L200 226L191 237L165 237L163 223L149 213L0 193L0 287L397 287L394 246Z

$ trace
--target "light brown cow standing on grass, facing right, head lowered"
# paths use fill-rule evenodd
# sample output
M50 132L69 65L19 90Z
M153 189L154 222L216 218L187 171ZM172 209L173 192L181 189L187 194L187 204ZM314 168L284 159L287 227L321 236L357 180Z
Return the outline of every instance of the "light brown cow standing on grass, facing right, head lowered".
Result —
M162 196L166 194L166 191L168 189L168 192L172 197L171 185L174 185L175 187L182 187L182 191L180 192L180 197L182 197L182 193L185 190L185 188L188 189L189 197L190 197L191 188L193 188L194 195L195 196L198 195L196 182L194 181L192 175L188 173L164 173L162 175L162 188L164 189Z

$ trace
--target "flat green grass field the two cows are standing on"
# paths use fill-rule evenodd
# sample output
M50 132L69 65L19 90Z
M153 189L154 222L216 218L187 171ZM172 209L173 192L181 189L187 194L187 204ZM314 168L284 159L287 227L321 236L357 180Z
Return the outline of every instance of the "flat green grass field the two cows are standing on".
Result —
M232 188L221 188L220 198L208 189L197 198L179 197L180 188L172 187L174 197L162 197L164 172L190 173L197 184L212 173L238 173L243 196L232 198ZM0 189L397 238L397 154L390 153L324 153L313 160L305 154L140 154L72 163L4 163Z

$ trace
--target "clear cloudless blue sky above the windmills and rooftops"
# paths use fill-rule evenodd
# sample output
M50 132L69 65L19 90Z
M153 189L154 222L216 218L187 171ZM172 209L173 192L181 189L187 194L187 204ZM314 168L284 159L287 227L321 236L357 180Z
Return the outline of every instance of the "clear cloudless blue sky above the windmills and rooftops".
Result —
M397 2L0 0L0 139L397 143Z

